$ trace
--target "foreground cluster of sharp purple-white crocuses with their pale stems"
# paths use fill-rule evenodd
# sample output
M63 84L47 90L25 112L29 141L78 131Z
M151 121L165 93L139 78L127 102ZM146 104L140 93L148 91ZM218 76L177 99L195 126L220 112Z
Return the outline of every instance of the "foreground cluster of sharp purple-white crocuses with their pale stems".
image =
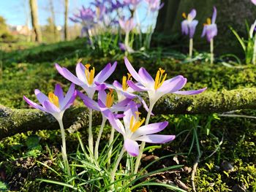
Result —
M160 123L149 123L149 119L152 115L154 104L157 100L167 93L175 93L182 95L192 95L201 93L206 88L197 91L180 91L181 88L187 83L187 79L181 75L173 77L167 80L167 74L164 69L159 68L155 78L151 77L145 68L141 67L138 72L133 68L132 64L129 63L127 58L124 58L124 64L127 66L129 73L127 76L122 77L121 82L115 80L112 85L105 82L108 77L115 71L117 63L107 64L102 71L97 75L96 69L91 67L90 64L83 65L80 62L76 65L76 75L69 72L68 69L56 64L56 69L59 74L64 78L72 82L69 91L64 96L61 86L56 85L55 91L48 93L46 96L39 90L35 90L35 95L41 105L31 101L26 96L23 96L25 101L34 108L48 112L58 120L61 128L62 137L62 156L64 165L67 173L70 175L69 163L66 151L66 141L64 126L62 123L62 117L64 111L69 108L76 96L79 96L83 100L83 103L89 108L89 150L91 155L94 155L94 159L97 161L99 157L99 142L102 132L104 131L106 120L109 121L112 126L112 131L109 139L109 146L113 142L114 132L118 131L124 137L124 147L119 154L118 161L113 166L111 172L111 181L114 180L116 175L116 169L121 161L122 156L127 151L129 155L137 156L135 163L134 174L138 172L138 166L140 164L140 158L143 155L143 149L145 143L165 143L175 139L174 135L162 135L157 134L162 131L166 126L167 122ZM135 80L135 82L134 82ZM83 88L83 91L75 90L75 85ZM118 99L115 99L113 91L116 91ZM140 91L146 91L148 93L149 107L146 102L138 96L136 93ZM97 99L94 101L94 94L97 93ZM136 99L137 98L137 99ZM140 112L138 108L140 103L133 101L136 99L143 104L143 107L148 112L146 118L140 118ZM92 128L92 111L97 110L102 112L102 126L97 136L97 141L94 145L93 140L93 128ZM122 118L122 121L119 120ZM141 144L138 144L138 141ZM111 161L111 150L108 150L109 163Z

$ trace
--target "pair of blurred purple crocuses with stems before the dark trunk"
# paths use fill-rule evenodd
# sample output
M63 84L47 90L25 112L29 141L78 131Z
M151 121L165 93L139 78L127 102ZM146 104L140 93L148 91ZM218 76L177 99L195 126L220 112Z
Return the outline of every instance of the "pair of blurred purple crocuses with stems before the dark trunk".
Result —
M190 57L192 57L193 37L195 34L195 29L198 24L198 20L195 20L196 15L197 15L197 12L195 9L192 9L188 15L186 15L185 12L182 14L185 20L181 22L181 31L182 31L182 34L189 36L189 56ZM217 9L216 7L214 7L214 13L212 17L207 18L206 23L203 24L203 33L202 33L202 37L206 36L206 39L211 44L211 64L214 61L214 37L216 37L218 33L217 24L215 23L216 18L217 18Z

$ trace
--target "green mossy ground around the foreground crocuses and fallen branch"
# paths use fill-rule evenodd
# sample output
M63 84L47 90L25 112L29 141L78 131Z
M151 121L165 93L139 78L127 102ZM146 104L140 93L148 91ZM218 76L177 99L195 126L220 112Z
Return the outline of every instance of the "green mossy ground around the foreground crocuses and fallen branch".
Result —
M184 64L177 58L153 52L148 54L151 55L150 58L134 55L129 59L135 68L144 66L153 75L159 67L166 69L168 77L184 75L188 79L185 89L207 86L208 90L220 91L223 88L230 90L256 85L256 66L227 67L221 63L210 66L199 61ZM35 99L35 88L48 93L53 91L56 82L61 83L67 91L69 82L56 72L54 64L66 66L75 72L75 64L79 58L83 58L84 64L95 66L96 71L108 62L117 60L118 67L109 81L121 80L126 73L123 57L122 53L110 53L106 57L91 52L83 39L39 45L25 50L3 51L0 55L0 104L27 108L22 99L23 95ZM256 114L254 110L238 113L252 116ZM217 118L217 115L162 115L153 120L163 119L170 122L165 133L178 135L170 146L165 147L170 147L172 153L186 153L182 164L192 167L198 153L202 153L195 177L198 191L232 191L235 185L244 186L248 191L256 190L255 119ZM195 133L199 143L196 143ZM39 165L37 161L57 167L54 159L56 155L60 155L59 134L59 131L30 131L1 140L1 180L12 190L37 191L45 188L45 191L59 191L60 188L56 185L34 181L38 175L54 177L53 172ZM79 134L86 141L86 131L80 131ZM108 137L108 134L104 137ZM68 134L67 146L73 146L68 148L69 153L74 153L77 144L76 134ZM161 152L156 150L152 154L161 155ZM233 168L225 170L225 164L232 165ZM182 174L179 180L191 187L190 175Z

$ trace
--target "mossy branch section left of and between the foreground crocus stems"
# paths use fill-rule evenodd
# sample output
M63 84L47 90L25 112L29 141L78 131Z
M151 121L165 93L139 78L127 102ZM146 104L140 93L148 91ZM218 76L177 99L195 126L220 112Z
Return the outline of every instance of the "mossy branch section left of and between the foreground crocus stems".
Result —
M101 123L100 112L93 113L93 125ZM72 107L64 113L64 128L75 131L89 126L89 115L86 107ZM15 110L0 105L0 138L14 134L42 129L58 129L59 124L52 115L39 110Z

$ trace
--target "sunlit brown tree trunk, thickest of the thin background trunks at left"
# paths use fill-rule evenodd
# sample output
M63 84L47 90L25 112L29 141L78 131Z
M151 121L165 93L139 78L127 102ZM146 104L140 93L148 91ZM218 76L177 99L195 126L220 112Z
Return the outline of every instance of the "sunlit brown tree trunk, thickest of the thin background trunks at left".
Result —
M29 0L31 10L31 23L35 34L36 42L42 42L42 34L38 22L37 0Z

